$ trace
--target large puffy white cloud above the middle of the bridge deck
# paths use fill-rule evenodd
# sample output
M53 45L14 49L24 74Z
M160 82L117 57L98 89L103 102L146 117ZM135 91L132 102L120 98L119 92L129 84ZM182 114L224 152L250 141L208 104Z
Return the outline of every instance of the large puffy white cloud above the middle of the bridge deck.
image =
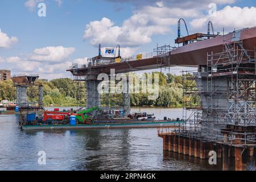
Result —
M157 2L154 6L143 6L135 10L134 14L117 26L108 18L102 18L86 24L84 39L90 40L90 44L98 46L99 43L106 46L138 47L151 42L151 38L157 34L167 34L170 26L176 25L180 17L195 18L202 16L198 9L183 10L177 7L163 6L163 2Z

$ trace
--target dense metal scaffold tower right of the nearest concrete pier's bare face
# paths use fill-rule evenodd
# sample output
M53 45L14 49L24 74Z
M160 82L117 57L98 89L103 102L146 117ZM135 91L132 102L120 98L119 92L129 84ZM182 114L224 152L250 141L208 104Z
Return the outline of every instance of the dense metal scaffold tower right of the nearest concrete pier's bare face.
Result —
M223 52L208 54L209 92L221 92L228 100L225 107L210 100L209 114L218 112L215 116L226 125L256 126L255 62L255 49L246 50L240 41L224 43ZM213 88L212 82L218 78L225 78L224 82Z

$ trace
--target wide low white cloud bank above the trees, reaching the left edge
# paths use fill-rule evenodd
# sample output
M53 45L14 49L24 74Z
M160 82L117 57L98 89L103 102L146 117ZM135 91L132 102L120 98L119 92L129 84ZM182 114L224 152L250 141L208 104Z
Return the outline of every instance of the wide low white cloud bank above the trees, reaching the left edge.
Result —
M61 73L68 76L66 69L71 67L71 61L69 55L75 51L75 48L59 47L45 47L35 49L34 53L30 56L12 56L12 57L0 57L0 67L8 66L8 69L14 74L20 73L39 73L44 75L54 75ZM6 64L7 63L7 64Z

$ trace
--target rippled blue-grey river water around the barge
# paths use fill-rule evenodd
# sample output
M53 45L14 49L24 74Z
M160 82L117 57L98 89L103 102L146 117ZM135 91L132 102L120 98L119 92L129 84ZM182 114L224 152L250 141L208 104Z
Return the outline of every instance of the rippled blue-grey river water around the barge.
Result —
M182 118L183 110L141 111L163 119ZM38 163L39 151L46 152L46 165ZM1 116L0 170L221 170L221 162L210 166L207 160L163 152L157 129L28 132L18 129L16 116Z

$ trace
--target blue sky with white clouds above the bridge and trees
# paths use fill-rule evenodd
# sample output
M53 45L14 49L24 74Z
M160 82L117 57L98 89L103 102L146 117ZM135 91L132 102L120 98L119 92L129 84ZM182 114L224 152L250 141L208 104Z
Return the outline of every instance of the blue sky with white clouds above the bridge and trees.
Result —
M0 0L0 69L49 80L71 77L65 70L97 56L98 44L119 44L121 56L152 52L157 44L177 46L179 18L189 34L206 33L209 20L222 34L223 28L256 26L255 6L255 0ZM181 35L187 35L183 24ZM170 72L182 69L194 68Z

